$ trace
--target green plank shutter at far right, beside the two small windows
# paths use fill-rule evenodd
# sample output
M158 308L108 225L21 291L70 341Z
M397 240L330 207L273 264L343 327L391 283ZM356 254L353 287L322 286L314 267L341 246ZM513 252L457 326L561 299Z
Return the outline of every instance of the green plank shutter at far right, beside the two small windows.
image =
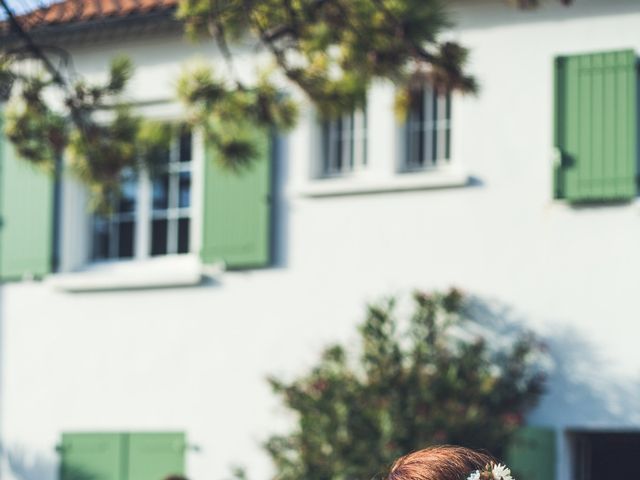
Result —
M635 53L559 57L555 69L556 196L572 202L635 197Z

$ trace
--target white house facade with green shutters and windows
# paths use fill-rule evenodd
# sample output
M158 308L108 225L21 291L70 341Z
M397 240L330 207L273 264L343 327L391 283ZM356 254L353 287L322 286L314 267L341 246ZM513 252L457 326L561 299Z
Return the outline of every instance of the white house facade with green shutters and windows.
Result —
M88 78L126 53L139 111L180 118L184 63L219 53L184 40L171 4L138 5L61 15L43 35ZM249 192L231 218L206 188L218 177L198 132L176 138L162 182L132 182L102 223L66 177L55 215L42 211L53 184L2 141L4 478L59 478L56 447L79 432L131 449L136 432L165 432L188 447L189 478L233 464L268 478L260 442L288 420L265 377L352 340L367 302L450 285L549 345L549 391L528 423L552 432L556 479L600 480L603 462L640 451L640 3L450 7L478 95L426 89L413 135L391 85L326 128L303 107L263 170L229 187ZM250 74L254 54L238 48ZM212 244L225 253L203 262Z

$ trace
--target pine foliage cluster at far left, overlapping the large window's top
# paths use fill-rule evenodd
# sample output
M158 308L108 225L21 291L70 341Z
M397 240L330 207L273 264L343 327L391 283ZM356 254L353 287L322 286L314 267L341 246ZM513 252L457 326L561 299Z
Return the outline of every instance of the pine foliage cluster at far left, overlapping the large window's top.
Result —
M59 81L41 72L28 75L5 62L4 75L17 91L5 112L5 133L19 155L52 170L63 152L69 152L71 167L94 193L96 206L117 194L121 172L136 164L140 119L121 100L133 75L126 57L114 58L107 81L92 85L78 80L63 89L62 108L51 106L48 96L59 93ZM2 68L2 65L0 65ZM1 73L0 73L1 76ZM68 115L60 113L66 111ZM96 119L103 112L107 118Z

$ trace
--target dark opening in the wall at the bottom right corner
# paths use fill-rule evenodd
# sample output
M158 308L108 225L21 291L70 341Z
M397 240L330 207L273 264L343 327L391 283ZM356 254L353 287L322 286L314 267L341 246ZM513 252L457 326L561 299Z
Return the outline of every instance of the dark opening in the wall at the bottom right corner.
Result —
M637 478L640 432L576 433L574 480Z

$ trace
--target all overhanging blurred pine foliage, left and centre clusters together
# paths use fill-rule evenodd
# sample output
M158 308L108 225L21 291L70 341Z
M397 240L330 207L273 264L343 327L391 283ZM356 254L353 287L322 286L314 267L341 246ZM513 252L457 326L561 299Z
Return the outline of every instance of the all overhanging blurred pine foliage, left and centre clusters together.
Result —
M509 2L521 8L538 3ZM256 157L256 130L295 125L293 99L300 93L321 116L331 118L363 107L377 80L397 86L400 112L424 82L438 89L474 92L475 81L465 70L467 50L442 36L452 26L446 4L180 0L177 15L187 34L213 39L224 61L187 70L178 81L177 95L188 108L187 120L203 127L217 149L215 158L238 169ZM271 59L253 81L241 80L234 65L233 45L247 42ZM48 65L43 76L21 73L23 62L11 55L0 55L0 99L13 90L14 105L6 122L9 138L23 158L47 168L69 147L74 170L89 184L97 203L108 204L105 199L116 192L123 170L150 158L146 153L158 149L150 142L165 141L159 127L143 128L122 100L133 74L131 63L115 59L106 83L89 85L52 72L42 51L34 55ZM54 89L61 95L47 93ZM54 107L50 99L60 96L62 105ZM96 113L104 111L111 112L111 120L98 122Z

